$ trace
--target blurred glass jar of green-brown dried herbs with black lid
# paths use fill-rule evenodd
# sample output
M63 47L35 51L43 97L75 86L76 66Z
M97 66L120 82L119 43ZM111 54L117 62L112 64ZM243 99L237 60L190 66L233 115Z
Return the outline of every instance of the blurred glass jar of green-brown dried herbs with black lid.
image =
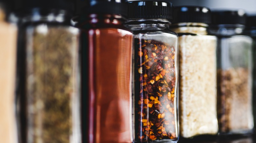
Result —
M19 25L22 142L80 143L79 30L71 0L27 0Z

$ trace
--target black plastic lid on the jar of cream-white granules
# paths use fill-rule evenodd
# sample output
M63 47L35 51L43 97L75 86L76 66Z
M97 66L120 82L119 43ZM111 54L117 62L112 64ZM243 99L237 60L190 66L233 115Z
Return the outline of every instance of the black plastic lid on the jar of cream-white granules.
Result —
M173 23L211 23L211 10L206 7L178 6L173 10Z

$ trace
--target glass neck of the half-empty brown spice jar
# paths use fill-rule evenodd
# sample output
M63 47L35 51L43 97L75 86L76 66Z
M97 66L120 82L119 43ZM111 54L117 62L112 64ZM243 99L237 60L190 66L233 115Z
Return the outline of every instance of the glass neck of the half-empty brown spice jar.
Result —
M244 32L245 25L241 24L220 24L211 25L209 33L216 36L234 36L241 35Z

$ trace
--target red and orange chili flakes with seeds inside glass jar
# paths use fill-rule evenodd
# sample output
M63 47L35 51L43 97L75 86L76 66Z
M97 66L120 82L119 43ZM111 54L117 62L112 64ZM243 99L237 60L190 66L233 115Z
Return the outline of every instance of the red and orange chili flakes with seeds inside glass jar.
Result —
M175 47L135 39L136 141L177 139Z

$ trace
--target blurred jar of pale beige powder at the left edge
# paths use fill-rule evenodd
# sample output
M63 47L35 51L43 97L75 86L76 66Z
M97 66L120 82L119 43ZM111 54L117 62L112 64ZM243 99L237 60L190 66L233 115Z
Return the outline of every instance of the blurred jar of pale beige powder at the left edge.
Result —
M16 25L6 21L7 1L0 0L0 138L3 143L17 142L15 119Z

